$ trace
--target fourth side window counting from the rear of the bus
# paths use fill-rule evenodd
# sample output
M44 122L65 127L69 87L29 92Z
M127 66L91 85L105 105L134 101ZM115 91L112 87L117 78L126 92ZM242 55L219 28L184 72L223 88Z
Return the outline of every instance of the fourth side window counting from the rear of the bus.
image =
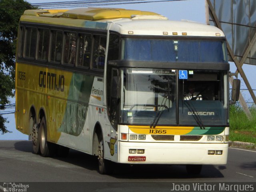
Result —
M52 31L50 60L53 62L61 62L62 40L63 40L62 31Z

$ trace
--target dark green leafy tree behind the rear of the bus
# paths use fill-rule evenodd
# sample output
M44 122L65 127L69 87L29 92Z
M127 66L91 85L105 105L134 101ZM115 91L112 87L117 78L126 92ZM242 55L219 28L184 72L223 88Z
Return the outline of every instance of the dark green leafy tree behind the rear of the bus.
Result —
M24 0L0 0L0 110L10 104L14 96L15 53L20 16L27 9L35 9ZM0 113L0 133L9 132Z

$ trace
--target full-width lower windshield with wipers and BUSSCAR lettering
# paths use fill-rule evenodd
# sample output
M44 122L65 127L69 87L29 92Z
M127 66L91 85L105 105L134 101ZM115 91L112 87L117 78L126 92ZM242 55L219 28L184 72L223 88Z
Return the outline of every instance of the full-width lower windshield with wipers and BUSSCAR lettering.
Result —
M191 70L188 79L178 79L177 82L177 72L123 68L121 123L151 126L179 124L202 129L204 126L226 125L226 74Z

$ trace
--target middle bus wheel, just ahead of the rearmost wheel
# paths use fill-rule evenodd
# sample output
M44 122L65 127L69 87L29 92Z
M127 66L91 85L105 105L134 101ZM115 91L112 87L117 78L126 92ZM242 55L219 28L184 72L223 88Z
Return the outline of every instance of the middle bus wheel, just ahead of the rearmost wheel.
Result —
M56 144L47 141L45 118L42 117L39 128L40 152L43 157L51 157L56 154Z

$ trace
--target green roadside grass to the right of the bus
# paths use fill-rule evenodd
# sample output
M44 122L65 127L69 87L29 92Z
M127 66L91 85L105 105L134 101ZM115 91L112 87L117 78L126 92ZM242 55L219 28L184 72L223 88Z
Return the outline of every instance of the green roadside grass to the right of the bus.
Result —
M230 140L256 144L256 108L250 108L252 119L248 119L239 105L230 106Z

